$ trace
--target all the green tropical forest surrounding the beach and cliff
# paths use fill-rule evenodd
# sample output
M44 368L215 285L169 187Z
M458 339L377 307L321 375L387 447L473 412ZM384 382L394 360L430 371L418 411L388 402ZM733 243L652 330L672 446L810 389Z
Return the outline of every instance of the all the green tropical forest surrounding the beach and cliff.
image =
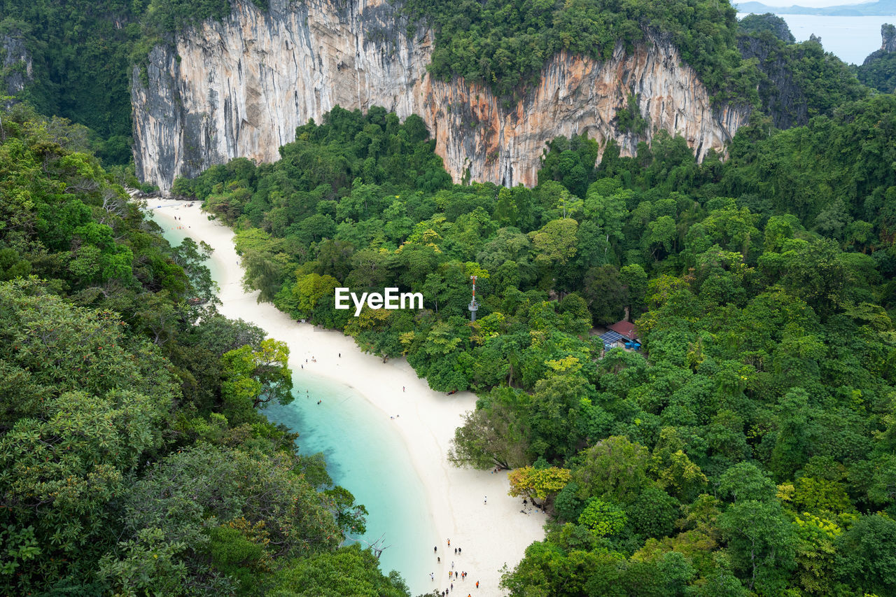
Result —
M495 586L450 594L896 595L896 48L847 65L728 0L384 3L384 56L432 31L429 84L499 108L558 55L662 43L749 117L698 150L625 91L613 134L551 136L501 184L457 176L426 114L336 102L273 160L143 176L159 48L383 10L354 4L0 0L0 593L449 594L354 541L369 505L267 415L303 400L299 348L222 315L220 251L169 243L164 195L233 231L259 303L471 396L445 466L542 518ZM333 299L387 287L422 307Z

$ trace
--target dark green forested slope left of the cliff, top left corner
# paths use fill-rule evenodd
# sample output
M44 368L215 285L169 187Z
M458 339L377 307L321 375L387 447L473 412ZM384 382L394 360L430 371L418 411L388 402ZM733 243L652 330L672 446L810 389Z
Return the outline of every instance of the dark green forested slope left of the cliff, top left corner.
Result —
M0 0L0 35L23 39L34 65L19 99L87 126L104 163L127 164L132 66L175 31L231 8L229 0Z

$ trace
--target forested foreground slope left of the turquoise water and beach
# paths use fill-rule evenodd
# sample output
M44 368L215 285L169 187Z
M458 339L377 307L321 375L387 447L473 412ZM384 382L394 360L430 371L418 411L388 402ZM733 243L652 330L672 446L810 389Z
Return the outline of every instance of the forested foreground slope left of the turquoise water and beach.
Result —
M0 116L0 593L407 595L255 409L291 400L285 345L191 300L206 248L168 247L82 127Z

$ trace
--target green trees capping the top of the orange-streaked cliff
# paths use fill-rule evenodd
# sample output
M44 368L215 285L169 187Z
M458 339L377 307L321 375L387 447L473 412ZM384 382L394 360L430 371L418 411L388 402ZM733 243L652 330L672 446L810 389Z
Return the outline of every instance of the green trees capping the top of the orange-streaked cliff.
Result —
M516 96L538 82L545 61L561 50L607 60L616 45L668 38L717 99L754 99L754 71L737 52L736 12L728 2L644 3L640 0L407 0L407 9L435 29L429 71L480 82Z

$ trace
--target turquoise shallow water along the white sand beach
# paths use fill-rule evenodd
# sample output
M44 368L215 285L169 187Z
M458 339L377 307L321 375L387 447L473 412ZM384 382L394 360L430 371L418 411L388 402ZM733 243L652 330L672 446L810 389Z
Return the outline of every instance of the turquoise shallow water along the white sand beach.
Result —
M156 221L172 245L188 236L188 229ZM213 256L209 269L220 281L220 264ZM332 480L366 506L367 532L353 539L362 544L378 541L385 548L380 558L383 572L398 570L413 595L430 589L429 572L434 567L429 549L435 544L435 526L407 448L392 429L394 422L349 385L302 368L293 370L293 387L296 400L267 408L268 419L299 434L301 454L322 452Z

